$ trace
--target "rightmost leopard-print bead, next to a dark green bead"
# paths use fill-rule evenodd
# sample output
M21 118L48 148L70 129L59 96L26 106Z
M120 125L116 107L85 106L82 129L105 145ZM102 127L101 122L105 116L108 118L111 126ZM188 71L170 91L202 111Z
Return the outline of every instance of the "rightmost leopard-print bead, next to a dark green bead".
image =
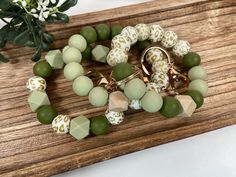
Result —
M188 41L179 40L173 47L173 52L176 56L182 57L190 51L190 44Z

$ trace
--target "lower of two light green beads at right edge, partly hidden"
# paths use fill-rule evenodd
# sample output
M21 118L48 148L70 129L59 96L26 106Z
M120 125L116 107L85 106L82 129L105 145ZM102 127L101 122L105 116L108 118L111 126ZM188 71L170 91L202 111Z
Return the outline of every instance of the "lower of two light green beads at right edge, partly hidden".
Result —
M196 79L190 82L188 90L197 90L205 97L208 93L208 84L204 80Z

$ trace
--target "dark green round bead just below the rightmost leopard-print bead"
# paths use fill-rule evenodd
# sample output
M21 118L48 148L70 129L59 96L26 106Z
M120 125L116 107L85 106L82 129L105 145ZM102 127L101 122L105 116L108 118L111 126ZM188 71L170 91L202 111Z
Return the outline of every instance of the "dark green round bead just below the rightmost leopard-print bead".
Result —
M192 68L199 65L201 62L200 56L196 52L189 52L183 57L183 65L186 68Z

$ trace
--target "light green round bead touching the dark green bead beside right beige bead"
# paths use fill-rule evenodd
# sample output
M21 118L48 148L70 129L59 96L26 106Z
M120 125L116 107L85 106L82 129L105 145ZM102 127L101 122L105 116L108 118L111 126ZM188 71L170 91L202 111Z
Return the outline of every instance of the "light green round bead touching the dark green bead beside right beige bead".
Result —
M161 109L162 96L156 91L148 91L140 100L142 108L147 112L157 112Z

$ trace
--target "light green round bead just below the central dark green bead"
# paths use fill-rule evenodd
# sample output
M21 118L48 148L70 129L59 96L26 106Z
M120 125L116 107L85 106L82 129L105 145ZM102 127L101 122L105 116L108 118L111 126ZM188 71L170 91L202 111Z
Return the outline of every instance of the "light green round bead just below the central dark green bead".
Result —
M124 93L130 100L139 100L146 90L145 83L141 79L135 78L125 84Z

